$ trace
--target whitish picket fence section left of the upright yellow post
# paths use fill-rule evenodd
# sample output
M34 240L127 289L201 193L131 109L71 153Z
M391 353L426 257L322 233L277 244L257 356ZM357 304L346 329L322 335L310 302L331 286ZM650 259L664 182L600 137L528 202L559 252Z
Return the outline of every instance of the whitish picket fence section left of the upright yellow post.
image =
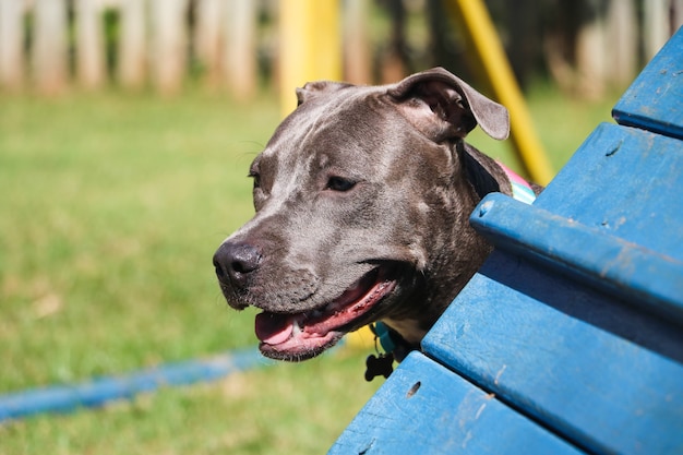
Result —
M81 85L104 85L103 15L109 11L118 17L113 79L122 86L151 82L172 93L192 53L207 79L248 97L256 81L257 8L252 0L0 0L0 85L59 92L69 83L70 62Z

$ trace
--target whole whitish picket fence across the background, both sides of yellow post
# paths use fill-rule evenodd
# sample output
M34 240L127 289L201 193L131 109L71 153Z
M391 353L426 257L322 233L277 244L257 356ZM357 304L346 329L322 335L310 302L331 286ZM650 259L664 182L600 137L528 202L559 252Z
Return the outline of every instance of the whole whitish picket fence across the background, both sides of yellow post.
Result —
M268 50L265 59L273 60L269 65L274 75L278 73L274 63L278 48L263 41L277 41L278 9L293 1L299 0L0 0L0 89L28 87L55 93L73 84L97 88L115 82L123 87L149 85L173 93L194 64L201 68L202 83L226 87L236 97L248 99L256 89L259 50L262 56ZM500 9L505 0L490 3ZM603 13L582 24L572 44L576 50L573 60L558 51L566 44L552 47L552 34L535 44L543 48L553 77L563 86L585 85L580 93L630 82L683 23L683 0L590 3L601 5ZM338 4L344 10L339 17L345 23L346 77L372 82L371 61L380 73L392 67L373 55L376 49L368 41L368 31L362 29L374 0L344 0ZM427 4L427 0L404 0L414 11L424 10ZM264 11L274 21L266 38L259 20ZM116 17L113 44L105 43L106 14ZM510 24L503 28L506 25L512 29ZM381 39L375 47L391 46L392 37ZM113 63L111 55L116 55Z

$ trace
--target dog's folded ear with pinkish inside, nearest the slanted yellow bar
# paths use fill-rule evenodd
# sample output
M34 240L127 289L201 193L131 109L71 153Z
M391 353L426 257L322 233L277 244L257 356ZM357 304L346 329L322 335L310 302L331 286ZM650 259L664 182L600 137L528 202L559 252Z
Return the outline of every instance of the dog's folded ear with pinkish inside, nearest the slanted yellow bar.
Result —
M477 124L493 139L504 140L510 133L504 106L443 68L412 74L387 93L399 103L404 116L435 141L465 137Z

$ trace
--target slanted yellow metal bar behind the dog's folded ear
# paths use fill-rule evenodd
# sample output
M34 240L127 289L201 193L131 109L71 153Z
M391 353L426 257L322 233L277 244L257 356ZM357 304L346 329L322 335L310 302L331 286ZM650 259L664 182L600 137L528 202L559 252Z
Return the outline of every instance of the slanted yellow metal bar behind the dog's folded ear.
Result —
M448 0L446 5L462 24L493 96L510 110L511 140L525 170L537 183L547 184L554 175L552 166L536 135L531 116L483 1Z

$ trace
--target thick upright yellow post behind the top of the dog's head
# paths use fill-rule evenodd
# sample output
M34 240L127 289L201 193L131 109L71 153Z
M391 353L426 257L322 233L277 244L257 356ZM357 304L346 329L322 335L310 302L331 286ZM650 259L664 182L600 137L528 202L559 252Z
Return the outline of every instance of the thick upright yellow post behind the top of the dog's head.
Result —
M297 106L295 88L342 79L339 0L280 0L279 96L283 116Z

